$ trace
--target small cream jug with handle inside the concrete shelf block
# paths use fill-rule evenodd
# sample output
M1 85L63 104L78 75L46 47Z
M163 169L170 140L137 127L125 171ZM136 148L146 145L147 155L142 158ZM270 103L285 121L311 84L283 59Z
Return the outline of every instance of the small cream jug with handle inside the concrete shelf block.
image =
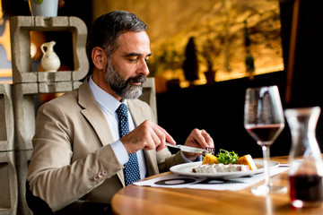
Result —
M40 46L41 52L43 53L43 56L40 61L40 65L45 72L57 72L57 69L60 66L60 60L57 54L54 52L54 48L53 48L55 44L56 44L55 41L50 41L47 43L43 43Z

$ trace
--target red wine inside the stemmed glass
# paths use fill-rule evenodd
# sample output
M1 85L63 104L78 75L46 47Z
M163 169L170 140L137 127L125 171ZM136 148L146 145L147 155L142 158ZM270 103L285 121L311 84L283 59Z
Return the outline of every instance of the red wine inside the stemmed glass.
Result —
M266 145L266 142L273 141L275 134L284 128L282 124L272 125L250 125L247 126L247 131L257 141Z

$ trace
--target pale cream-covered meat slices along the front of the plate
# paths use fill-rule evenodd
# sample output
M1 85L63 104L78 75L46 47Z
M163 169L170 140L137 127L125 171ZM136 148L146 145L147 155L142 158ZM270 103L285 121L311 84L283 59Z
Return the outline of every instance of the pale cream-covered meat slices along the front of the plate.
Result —
M197 168L193 168L192 171L196 173L223 173L223 172L240 172L248 171L249 166L240 164L205 164L200 165Z

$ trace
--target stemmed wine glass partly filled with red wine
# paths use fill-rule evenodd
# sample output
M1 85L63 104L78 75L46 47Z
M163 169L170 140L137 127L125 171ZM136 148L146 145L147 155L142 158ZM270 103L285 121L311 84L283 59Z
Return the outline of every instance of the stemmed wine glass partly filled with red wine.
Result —
M258 195L286 192L286 187L272 185L268 166L269 147L284 129L284 112L277 86L246 90L244 127L261 146L264 156L265 184L252 187L251 192Z

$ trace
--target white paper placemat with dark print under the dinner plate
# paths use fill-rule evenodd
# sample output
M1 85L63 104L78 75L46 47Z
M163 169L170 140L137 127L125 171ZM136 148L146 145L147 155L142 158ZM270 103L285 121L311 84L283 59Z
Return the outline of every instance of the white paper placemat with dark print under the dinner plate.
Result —
M269 174L270 176L275 176L287 170L288 167L271 168ZM239 191L251 185L255 185L264 179L265 173L230 179L199 178L194 176L180 176L177 174L171 174L167 176L156 177L149 180L138 181L135 182L134 185L167 188Z

